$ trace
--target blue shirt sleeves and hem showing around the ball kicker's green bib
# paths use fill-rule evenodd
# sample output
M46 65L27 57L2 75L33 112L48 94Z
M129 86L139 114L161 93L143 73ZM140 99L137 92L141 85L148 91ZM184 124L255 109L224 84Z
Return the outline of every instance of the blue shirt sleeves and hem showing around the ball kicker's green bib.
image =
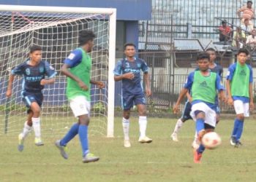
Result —
M187 77L187 80L186 80L186 83L184 84L184 88L188 89L188 90L191 90L192 89L192 84L194 82L194 74L195 74L195 71L193 71L192 73L189 74L189 76ZM218 91L220 90L225 90L223 85L221 84L221 81L220 81L220 77L219 75L217 74L217 79L216 79L216 82L215 82L215 87ZM203 102L203 103L206 103L204 102L203 100L194 100L192 101L192 105L195 104L195 103L199 103L199 102ZM212 104L212 103L206 103L210 108L214 109L215 111L217 110L217 103L215 104Z

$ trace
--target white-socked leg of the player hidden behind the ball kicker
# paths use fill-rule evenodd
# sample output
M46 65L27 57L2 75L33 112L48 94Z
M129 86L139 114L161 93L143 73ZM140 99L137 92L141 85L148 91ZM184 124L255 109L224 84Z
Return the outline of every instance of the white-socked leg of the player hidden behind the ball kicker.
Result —
M178 141L178 131L181 129L182 124L186 122L188 119L192 119L190 116L191 111L191 103L187 101L184 106L184 111L180 119L176 122L176 125L174 127L172 135L170 137L173 139L173 141Z

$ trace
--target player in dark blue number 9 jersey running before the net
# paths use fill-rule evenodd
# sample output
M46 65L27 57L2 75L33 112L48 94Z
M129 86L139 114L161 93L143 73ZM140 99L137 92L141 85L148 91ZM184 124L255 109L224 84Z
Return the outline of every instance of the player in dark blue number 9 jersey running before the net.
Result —
M18 150L23 151L23 143L26 136L31 132L32 126L35 134L35 144L42 146L41 139L40 112L42 106L42 90L45 84L53 84L56 71L46 60L42 60L42 48L34 45L30 47L29 59L12 69L9 84L7 87L7 97L12 95L12 83L15 75L23 76L22 98L28 108L28 119L24 124L23 132L18 135Z

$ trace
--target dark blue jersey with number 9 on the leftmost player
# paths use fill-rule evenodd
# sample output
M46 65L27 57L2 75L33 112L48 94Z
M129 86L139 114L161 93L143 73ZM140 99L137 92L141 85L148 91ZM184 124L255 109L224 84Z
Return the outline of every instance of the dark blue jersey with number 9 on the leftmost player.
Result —
M25 63L16 66L12 70L12 74L23 76L23 92L37 93L44 88L40 84L41 80L45 79L45 76L48 76L49 79L53 78L57 73L46 60L41 60L37 66L30 66L29 60L27 60Z

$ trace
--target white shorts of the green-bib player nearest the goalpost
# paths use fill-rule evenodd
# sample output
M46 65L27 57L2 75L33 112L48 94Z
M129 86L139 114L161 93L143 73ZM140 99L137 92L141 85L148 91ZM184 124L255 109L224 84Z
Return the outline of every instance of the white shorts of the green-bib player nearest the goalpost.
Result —
M75 117L90 114L91 103L84 96L77 96L69 100L70 108Z

